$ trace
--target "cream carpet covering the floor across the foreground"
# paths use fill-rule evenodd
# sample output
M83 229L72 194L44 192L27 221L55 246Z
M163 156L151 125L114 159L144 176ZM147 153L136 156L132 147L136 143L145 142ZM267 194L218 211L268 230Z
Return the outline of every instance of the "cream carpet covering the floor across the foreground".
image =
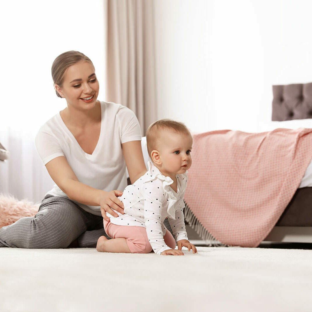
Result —
M0 311L312 311L312 251L0 248Z

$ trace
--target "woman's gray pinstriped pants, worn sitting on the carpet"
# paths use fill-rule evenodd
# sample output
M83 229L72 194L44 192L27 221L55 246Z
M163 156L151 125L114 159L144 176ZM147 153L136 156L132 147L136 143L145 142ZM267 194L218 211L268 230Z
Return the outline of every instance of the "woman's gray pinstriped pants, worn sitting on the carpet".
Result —
M0 247L95 247L100 236L109 238L103 218L84 211L66 197L46 196L35 217L24 217L0 229ZM165 226L172 233L169 222Z

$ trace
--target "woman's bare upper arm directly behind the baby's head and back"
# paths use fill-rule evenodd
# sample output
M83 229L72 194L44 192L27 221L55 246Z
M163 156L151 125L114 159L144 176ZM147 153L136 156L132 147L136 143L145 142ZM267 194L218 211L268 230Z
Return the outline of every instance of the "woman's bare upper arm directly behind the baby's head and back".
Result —
M129 178L133 184L147 171L144 163L141 141L129 141L123 143L121 146L129 172Z

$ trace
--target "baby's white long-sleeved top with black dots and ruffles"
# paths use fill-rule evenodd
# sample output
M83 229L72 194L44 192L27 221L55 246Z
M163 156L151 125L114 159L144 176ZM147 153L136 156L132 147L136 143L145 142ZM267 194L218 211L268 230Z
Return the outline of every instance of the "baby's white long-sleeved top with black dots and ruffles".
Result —
M117 225L145 227L154 252L160 255L170 249L163 236L166 227L163 224L168 217L176 241L188 239L185 231L183 198L187 185L187 172L176 174L178 188L174 192L170 187L173 180L164 176L157 167L148 162L149 170L132 185L124 189L118 197L124 203L124 214L119 217L106 213L110 222Z

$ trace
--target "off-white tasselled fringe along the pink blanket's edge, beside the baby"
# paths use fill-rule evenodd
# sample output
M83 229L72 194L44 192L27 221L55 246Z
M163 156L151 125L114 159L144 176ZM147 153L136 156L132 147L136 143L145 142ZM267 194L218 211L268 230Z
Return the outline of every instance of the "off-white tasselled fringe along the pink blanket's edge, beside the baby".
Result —
M225 245L218 241L211 233L209 233L206 228L197 220L195 215L193 214L190 207L188 207L188 204L185 203L184 208L184 219L192 229L196 231L196 233L199 235L199 237L205 241L205 244L207 246L211 247L229 247L229 245Z

